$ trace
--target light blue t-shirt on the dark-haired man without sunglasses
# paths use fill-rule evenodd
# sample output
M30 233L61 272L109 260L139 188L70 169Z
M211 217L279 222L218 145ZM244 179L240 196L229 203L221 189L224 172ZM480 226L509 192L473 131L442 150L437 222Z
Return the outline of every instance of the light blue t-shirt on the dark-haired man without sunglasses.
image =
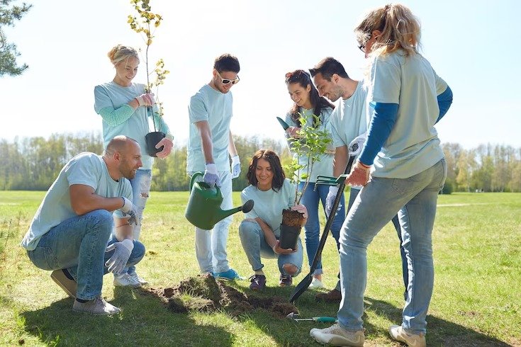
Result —
M340 98L331 114L331 133L335 147L349 146L355 137L367 132L366 117L367 89L360 81L352 96Z

